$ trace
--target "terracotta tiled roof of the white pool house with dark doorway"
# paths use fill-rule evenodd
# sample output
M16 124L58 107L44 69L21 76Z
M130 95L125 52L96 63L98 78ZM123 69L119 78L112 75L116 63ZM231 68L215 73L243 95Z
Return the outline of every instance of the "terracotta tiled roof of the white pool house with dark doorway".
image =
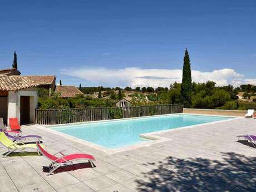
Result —
M35 86L38 84L27 77L0 75L0 90L2 91L16 91Z

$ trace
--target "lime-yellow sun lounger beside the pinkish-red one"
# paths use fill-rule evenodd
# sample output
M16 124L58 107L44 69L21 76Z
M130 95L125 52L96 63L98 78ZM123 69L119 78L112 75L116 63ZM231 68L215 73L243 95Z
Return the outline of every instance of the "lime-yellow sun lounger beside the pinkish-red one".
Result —
M40 155L40 151L37 149L36 144L24 144L22 141L12 141L9 139L6 134L4 134L3 131L0 132L0 142L3 146L7 147L8 152L7 154L4 155L4 157L7 157L9 154L11 154L14 151L23 151L24 149L31 148L31 149L36 149L38 155ZM42 149L45 147L44 145L41 145Z

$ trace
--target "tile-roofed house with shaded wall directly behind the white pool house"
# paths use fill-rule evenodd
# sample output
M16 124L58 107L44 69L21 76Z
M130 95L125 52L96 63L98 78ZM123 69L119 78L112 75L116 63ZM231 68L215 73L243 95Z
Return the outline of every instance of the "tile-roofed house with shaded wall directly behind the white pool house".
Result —
M37 82L39 88L46 88L49 91L55 90L55 75L28 75L24 77L28 77L31 81Z

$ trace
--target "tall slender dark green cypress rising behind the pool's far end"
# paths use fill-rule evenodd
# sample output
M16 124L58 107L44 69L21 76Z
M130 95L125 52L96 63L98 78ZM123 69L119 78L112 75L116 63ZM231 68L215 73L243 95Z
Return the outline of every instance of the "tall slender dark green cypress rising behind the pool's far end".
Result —
M189 52L186 49L183 64L183 75L181 83L181 99L186 107L191 106L191 96L192 96L192 78L191 78L191 67Z

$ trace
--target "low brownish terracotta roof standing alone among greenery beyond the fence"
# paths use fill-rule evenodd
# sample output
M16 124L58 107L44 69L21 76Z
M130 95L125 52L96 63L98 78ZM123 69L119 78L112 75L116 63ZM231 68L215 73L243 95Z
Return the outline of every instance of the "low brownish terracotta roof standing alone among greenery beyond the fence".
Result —
M62 98L75 97L77 95L83 95L83 92L78 90L75 86L58 85L55 89L56 93L60 94Z

